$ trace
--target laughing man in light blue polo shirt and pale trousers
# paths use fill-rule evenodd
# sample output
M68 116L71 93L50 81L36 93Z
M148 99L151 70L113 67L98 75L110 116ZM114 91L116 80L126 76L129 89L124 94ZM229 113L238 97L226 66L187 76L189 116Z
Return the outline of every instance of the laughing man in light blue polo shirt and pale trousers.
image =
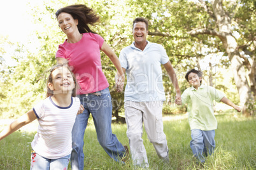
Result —
M164 162L169 162L162 123L162 103L166 97L161 65L164 65L174 84L177 100L181 100L181 94L166 50L160 44L146 41L148 21L145 18L139 17L134 20L132 34L134 42L122 49L119 56L122 69L127 74L124 94L125 121L133 164L148 167L146 150L141 138L143 122L148 139L153 143L157 155Z

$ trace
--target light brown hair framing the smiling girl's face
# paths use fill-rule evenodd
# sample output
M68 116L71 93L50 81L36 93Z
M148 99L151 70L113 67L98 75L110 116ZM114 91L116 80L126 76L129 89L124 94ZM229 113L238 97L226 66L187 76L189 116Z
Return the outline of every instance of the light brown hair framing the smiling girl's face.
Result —
M75 82L75 88L72 90L72 96L75 97L76 96L76 89L78 88L78 83L76 83L76 77L73 74L73 72L71 71L71 69L68 67L68 63L63 63L63 64L57 64L54 65L51 69L50 69L50 74L48 75L47 81L46 81L46 87L47 87L47 93L46 93L46 98L48 98L49 96L53 95L53 91L48 87L48 83L52 82L52 72L56 69L59 69L60 67L67 67L67 69L69 70L69 72L71 72L71 75L73 77L73 80Z

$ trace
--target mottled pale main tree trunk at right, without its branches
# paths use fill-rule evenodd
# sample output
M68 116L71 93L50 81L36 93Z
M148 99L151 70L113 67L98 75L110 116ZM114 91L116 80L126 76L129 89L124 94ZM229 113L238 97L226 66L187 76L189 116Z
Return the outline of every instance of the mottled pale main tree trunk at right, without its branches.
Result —
M225 51L227 52L229 60L231 61L231 68L234 73L236 87L238 88L240 104L243 110L243 114L245 114L246 102L252 98L252 92L246 79L245 67L243 66L243 62L239 57L238 43L232 36L232 18L230 18L230 16L225 13L225 10L222 6L222 0L213 0L211 3L213 4L213 11L215 17L217 18L218 30L221 33L221 36L219 37L222 40Z

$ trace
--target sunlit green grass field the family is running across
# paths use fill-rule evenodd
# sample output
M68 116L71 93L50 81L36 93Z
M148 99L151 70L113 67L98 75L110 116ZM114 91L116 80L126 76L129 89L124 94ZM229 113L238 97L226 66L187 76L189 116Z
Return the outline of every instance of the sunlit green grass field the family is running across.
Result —
M190 128L186 115L164 117L164 132L169 147L168 165L160 162L146 133L143 133L150 169L256 169L255 117L246 118L232 112L218 114L216 117L216 149L215 153L206 159L204 167L197 166L192 158L189 146ZM0 126L0 130L3 128L4 126ZM112 124L112 129L118 140L129 146L126 124ZM35 132L17 131L0 141L0 169L29 169L34 134ZM134 169L131 160L128 160L127 164L119 164L110 159L97 142L93 123L90 123L85 131L84 140L84 169Z

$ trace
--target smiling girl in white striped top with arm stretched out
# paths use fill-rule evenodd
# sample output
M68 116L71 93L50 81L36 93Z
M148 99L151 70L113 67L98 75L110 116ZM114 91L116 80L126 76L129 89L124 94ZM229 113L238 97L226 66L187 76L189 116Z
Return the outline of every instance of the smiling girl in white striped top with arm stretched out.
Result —
M83 112L79 98L75 97L75 75L67 65L55 65L50 70L47 87L45 100L6 127L0 133L0 141L38 119L38 132L31 143L31 169L68 169L71 131L76 114Z

